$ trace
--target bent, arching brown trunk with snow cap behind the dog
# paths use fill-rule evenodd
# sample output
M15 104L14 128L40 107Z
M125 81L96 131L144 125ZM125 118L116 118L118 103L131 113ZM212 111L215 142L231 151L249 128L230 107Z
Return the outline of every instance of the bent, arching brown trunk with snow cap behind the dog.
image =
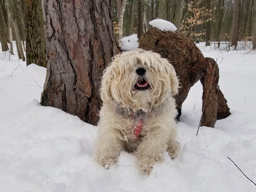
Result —
M227 101L218 86L218 65L213 59L204 58L192 40L179 33L152 28L139 39L139 44L140 48L160 54L173 65L180 79L179 93L175 96L178 120L182 103L199 79L203 85L201 126L214 127L217 119L230 115Z

